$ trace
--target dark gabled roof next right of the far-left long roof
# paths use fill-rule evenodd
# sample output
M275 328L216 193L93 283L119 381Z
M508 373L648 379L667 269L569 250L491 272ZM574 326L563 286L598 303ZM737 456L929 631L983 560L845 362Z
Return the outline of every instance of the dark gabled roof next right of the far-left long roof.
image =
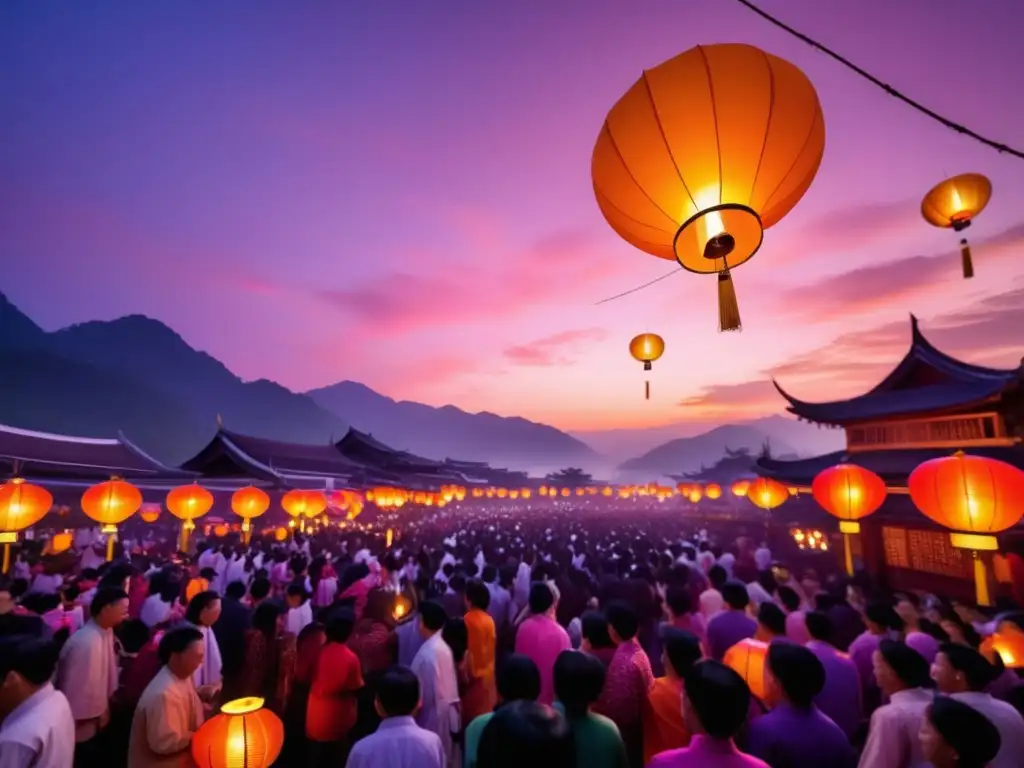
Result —
M352 461L333 444L283 442L217 430L207 445L185 462L182 469L206 476L250 476L279 485L309 479L345 482L390 482L397 478L379 469ZM301 483L300 483L301 484Z

